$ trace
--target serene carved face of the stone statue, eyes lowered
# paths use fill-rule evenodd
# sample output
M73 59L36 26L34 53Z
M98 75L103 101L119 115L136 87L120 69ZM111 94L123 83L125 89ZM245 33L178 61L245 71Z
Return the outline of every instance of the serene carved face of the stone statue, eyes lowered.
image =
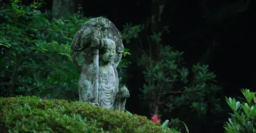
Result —
M108 43L105 47L105 54L102 55L102 61L109 63L113 61L116 54L116 45L114 43Z

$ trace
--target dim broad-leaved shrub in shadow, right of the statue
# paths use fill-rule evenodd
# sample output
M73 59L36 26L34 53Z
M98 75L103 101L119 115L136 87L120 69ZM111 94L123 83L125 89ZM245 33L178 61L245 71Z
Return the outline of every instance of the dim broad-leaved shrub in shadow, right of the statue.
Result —
M215 75L208 65L193 65L193 77L189 80L189 70L181 65L182 52L174 52L169 46L160 49L160 61L145 63L147 84L141 90L145 101L150 101L164 112L185 108L205 115L208 109L219 111L220 99L215 99L220 87L214 85ZM141 62L149 62L142 56ZM211 106L209 106L211 105ZM163 107L163 108L160 108ZM180 113L185 114L180 110Z

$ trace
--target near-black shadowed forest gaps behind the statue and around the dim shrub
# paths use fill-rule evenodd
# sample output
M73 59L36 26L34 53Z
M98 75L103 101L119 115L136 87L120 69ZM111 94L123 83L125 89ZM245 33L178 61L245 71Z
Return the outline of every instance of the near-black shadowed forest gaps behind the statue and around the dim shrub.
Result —
M134 114L145 115L150 118L151 115L157 113L161 116L162 121L165 119L179 118L180 121L184 121L187 124L191 132L223 132L223 123L230 116L228 114L230 110L225 102L225 96L242 96L242 88L248 88L252 92L255 91L256 66L254 64L254 36L256 1L45 0L44 2L45 4L39 10L42 13L49 12L46 16L49 20L53 21L53 18L67 19L68 16L76 14L79 11L79 17L82 19L86 17L95 18L104 16L122 31L123 36L125 33L126 35L135 35L129 38L129 42L126 42L125 39L123 40L125 48L130 49L129 52L131 53L131 55L125 56L124 59L130 61L131 64L122 68L123 73L119 73L123 75L123 84L126 84L130 90L130 98L126 102L126 110ZM8 3L8 1L2 1L3 3ZM21 1L21 3L29 5L33 1L27 0ZM82 9L78 7L82 7ZM143 29L137 31L141 27ZM125 32L127 28L132 29L128 34ZM140 95L146 95L140 89L145 88L145 84L148 85L145 74L142 73L142 71L147 71L148 69L141 63L145 61L142 59L142 55L151 53L153 54L152 60L163 60L159 59L159 56L154 56L158 52L161 52L159 49L157 52L152 49L152 52L149 52L149 43L154 43L155 41L149 40L148 37L158 35L158 33L161 33L161 37L159 37L161 40L157 41L156 44L170 46L173 48L173 51L184 52L182 54L182 62L185 63L183 64L185 68L191 68L197 63L199 65L209 65L209 70L216 75L214 79L217 82L214 84L222 88L214 92L214 98L220 99L219 106L221 106L222 111L213 113L214 111L210 111L209 109L202 115L191 113L188 119L187 114L193 109L183 107L182 109L177 108L173 111L166 112L159 106L155 109L152 107L153 105L147 103L154 101L154 99L147 100L147 97L145 101L145 99L140 98ZM61 36L57 38L61 39ZM52 39L54 40L54 37ZM152 47L155 48L156 45ZM22 77L22 74L20 75ZM10 82L10 78L6 77L8 76L5 74L1 81ZM193 79L191 78L193 76L188 75L188 77L188 80ZM76 78L78 80L79 74ZM177 86L179 84L180 82L177 83ZM14 86L13 88L15 87L19 88L19 86ZM8 96L5 95L7 88L10 87L6 84L2 85L2 93L0 93L2 96ZM54 87L51 89L54 89ZM77 88L73 89L74 92L77 90ZM38 94L38 96L44 97L43 94L51 97L49 96L49 92ZM71 96L72 98L67 96L69 97L68 99L78 98L76 93L73 94ZM181 96L181 94L177 95ZM168 95L163 97L168 97ZM58 97L52 96L52 98ZM61 98L65 99L65 97ZM183 113L179 114L179 112ZM171 122L174 125L173 128L178 127L177 129L179 129L179 120L173 120Z

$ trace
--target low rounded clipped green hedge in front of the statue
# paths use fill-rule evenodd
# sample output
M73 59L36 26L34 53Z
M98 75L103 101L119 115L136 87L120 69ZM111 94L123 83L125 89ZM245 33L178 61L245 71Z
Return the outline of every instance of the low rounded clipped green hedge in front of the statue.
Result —
M146 117L83 102L33 97L0 98L4 132L175 132Z

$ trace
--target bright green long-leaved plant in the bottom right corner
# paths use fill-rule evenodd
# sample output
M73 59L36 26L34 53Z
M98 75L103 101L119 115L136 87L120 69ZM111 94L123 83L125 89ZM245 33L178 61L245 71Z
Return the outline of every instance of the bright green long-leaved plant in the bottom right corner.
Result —
M227 98L226 102L233 111L230 113L231 118L225 123L225 130L228 133L252 133L256 132L256 97L255 92L249 89L242 89L245 99L242 102L236 101L235 98Z

